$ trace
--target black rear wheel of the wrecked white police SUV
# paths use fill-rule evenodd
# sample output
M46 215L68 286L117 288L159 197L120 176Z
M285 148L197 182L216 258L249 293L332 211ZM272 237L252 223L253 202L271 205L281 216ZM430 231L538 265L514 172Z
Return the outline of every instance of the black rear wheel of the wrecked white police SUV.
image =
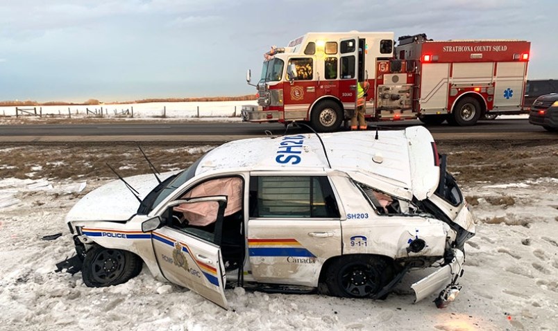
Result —
M329 293L341 298L369 298L394 277L388 263L376 256L350 255L338 258L326 271Z

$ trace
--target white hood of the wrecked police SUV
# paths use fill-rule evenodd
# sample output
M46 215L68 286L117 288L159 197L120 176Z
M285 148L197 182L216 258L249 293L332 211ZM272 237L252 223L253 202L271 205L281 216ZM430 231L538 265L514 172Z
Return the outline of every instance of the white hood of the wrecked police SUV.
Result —
M153 174L126 177L125 180L140 193L140 199L144 199L158 185ZM124 182L115 180L87 193L71 208L66 222L126 221L135 215L139 207L140 202L126 188Z

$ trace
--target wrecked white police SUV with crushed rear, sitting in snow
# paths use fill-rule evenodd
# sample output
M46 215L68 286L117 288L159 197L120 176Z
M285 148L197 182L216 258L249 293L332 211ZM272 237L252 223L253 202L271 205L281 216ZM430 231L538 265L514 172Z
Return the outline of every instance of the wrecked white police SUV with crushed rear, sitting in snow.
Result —
M59 268L103 287L145 264L224 308L227 283L384 298L437 267L415 301L439 294L444 307L461 289L473 217L423 127L233 141L162 179L85 195L66 217L77 255Z

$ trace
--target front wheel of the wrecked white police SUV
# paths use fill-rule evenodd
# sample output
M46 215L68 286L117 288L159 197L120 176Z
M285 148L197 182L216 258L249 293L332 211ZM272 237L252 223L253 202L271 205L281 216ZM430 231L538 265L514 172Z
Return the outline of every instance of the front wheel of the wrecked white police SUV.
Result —
M87 251L81 275L88 287L126 283L142 271L142 259L129 251L95 245Z

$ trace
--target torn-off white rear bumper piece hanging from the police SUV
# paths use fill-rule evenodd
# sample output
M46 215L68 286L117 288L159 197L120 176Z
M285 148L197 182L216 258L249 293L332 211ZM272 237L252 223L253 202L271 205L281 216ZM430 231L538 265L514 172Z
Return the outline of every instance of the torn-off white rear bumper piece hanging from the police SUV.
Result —
M421 301L423 298L438 292L444 286L447 286L448 288L451 287L453 289L453 295L447 296L446 298L443 298L443 300L446 300L448 303L453 301L453 298L455 298L457 293L459 293L459 290L457 290L457 293L455 292L455 288L459 287L459 285L455 285L455 280L463 274L464 260L464 253L459 249L453 249L453 259L448 264L411 285L415 294L414 302L416 303ZM448 288L444 289L443 292L446 292ZM443 294L443 292L441 294Z

